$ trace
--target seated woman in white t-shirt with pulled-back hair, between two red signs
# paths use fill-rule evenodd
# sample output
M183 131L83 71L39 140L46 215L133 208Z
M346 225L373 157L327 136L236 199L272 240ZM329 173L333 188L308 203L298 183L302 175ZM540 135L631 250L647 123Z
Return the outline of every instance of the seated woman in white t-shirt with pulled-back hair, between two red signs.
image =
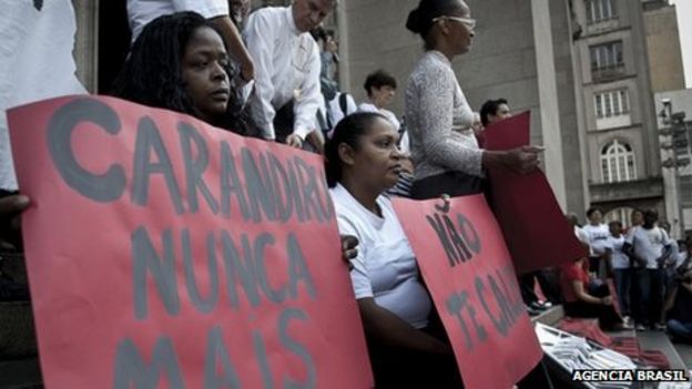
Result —
M339 233L358 238L350 272L377 388L461 388L449 340L404 229L381 194L401 171L398 134L383 115L342 120L326 145Z

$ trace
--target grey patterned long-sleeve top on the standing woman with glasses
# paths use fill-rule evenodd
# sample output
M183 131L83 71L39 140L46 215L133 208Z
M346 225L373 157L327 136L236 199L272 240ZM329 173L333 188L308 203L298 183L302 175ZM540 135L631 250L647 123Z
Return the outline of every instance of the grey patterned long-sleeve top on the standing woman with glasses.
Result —
M474 112L439 51L427 51L408 80L406 121L416 180L446 172L484 176Z

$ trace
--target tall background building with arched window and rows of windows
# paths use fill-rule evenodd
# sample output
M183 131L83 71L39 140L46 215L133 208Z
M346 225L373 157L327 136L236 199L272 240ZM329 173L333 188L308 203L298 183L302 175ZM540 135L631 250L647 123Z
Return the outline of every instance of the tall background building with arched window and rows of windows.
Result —
M665 218L642 3L572 4L590 202L604 208L607 218L627 222L632 207L653 207Z

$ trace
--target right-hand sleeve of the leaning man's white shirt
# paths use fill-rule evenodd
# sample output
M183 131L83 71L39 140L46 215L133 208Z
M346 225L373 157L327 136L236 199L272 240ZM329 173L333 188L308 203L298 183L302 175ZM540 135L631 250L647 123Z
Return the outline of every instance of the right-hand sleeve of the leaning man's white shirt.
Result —
M301 89L301 98L297 99L294 105L295 124L293 126L293 133L301 136L303 140L305 140L307 134L317 129L317 110L324 101L319 85L319 71L322 69L319 50L314 41L309 40L309 42L313 47L308 68L309 71Z

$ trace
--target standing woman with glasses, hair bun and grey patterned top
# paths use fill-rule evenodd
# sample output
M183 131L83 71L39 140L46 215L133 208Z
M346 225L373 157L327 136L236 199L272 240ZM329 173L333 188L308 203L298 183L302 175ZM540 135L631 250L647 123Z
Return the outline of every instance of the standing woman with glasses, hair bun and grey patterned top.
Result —
M478 146L471 129L476 115L451 69L451 60L469 50L475 27L462 0L421 0L408 16L406 28L420 34L426 50L406 89L416 164L414 198L480 193L488 167L526 174L539 164L541 147L487 151Z

